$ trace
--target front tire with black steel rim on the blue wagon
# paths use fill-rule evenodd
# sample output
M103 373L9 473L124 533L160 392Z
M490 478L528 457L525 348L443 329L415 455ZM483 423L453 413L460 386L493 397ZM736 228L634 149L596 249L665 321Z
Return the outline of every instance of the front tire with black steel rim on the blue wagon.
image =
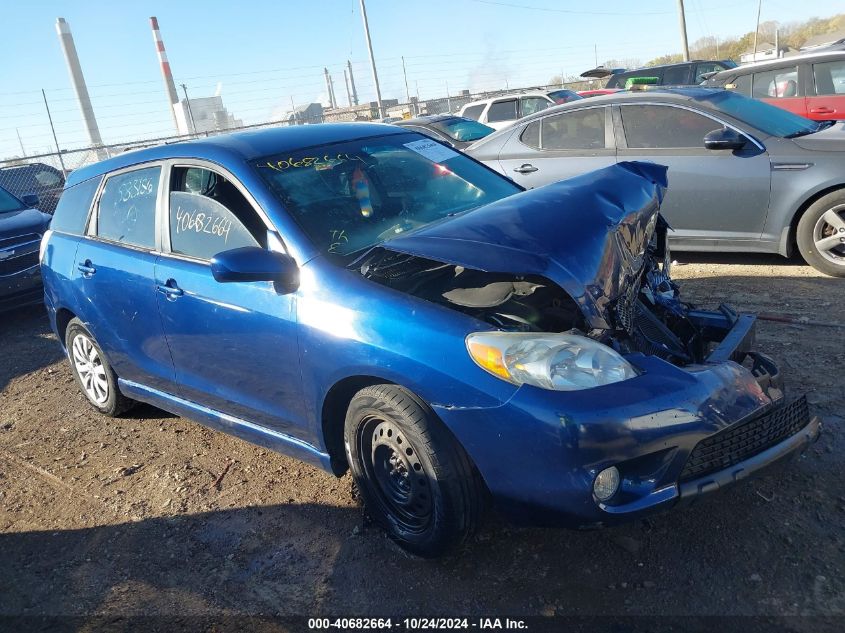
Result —
M359 391L344 440L369 516L403 549L435 558L475 532L484 485L461 445L413 393L397 385Z

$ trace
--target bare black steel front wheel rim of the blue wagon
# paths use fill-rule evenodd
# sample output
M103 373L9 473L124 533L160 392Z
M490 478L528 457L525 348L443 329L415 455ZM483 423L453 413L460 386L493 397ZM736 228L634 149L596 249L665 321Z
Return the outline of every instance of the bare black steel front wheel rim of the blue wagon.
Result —
M424 532L433 517L432 493L414 447L394 423L372 414L359 427L359 442L376 503L404 532Z

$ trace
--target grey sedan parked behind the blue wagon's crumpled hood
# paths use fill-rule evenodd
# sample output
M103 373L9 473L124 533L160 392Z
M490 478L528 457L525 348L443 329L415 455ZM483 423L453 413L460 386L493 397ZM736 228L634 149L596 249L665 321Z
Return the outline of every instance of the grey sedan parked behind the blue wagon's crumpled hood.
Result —
M712 88L619 92L545 110L467 148L527 188L621 161L667 165L673 247L797 246L845 277L845 124Z

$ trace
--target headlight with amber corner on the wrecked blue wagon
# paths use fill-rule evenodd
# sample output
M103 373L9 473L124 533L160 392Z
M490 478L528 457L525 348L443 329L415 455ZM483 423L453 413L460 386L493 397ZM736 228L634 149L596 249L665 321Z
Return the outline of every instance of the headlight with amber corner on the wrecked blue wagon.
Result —
M616 351L577 334L476 332L466 342L481 368L515 385L575 391L637 375Z

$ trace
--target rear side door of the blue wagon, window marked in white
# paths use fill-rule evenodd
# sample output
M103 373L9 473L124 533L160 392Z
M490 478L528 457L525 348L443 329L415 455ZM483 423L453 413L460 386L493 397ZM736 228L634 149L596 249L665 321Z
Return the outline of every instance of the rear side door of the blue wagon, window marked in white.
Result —
M80 239L72 273L80 318L118 376L172 392L173 363L154 283L162 165L110 174Z

